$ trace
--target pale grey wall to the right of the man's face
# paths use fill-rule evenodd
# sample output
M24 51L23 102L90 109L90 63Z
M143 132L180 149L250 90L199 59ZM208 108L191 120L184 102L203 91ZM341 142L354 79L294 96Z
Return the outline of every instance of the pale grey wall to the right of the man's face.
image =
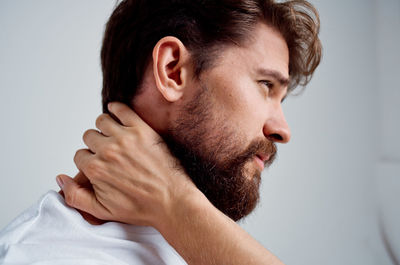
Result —
M265 174L262 207L244 227L288 264L391 264L379 218L391 207L395 247L400 193L383 201L377 183L387 177L383 194L400 186L398 168L380 167L383 154L399 154L400 25L390 22L399 2L312 2L324 58L305 93L285 102L292 142Z

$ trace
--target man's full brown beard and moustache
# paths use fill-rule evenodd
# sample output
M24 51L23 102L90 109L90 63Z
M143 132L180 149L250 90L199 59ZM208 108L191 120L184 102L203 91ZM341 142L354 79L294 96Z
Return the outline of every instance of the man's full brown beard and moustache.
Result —
M254 210L260 197L261 171L250 162L265 153L270 155L268 166L275 158L276 145L262 138L246 146L240 130L230 127L226 117L217 117L212 102L210 90L201 85L162 138L197 188L216 208L238 221Z

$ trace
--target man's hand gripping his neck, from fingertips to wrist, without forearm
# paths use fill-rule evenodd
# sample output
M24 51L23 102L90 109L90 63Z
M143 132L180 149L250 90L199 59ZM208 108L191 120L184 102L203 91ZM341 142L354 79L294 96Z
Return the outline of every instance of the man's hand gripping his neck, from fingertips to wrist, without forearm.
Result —
M202 194L135 112L122 103L111 103L109 110L122 125L100 115L96 127L101 132L86 131L89 149L78 150L74 158L84 175L75 180L59 175L57 182L71 207L101 220L158 228L188 196Z

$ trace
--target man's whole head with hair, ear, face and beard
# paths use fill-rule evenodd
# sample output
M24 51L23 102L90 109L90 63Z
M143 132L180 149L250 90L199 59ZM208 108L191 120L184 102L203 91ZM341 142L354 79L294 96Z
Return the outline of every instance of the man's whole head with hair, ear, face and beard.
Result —
M304 1L123 1L102 48L103 109L124 102L164 138L197 187L238 220L290 132L281 102L321 57Z

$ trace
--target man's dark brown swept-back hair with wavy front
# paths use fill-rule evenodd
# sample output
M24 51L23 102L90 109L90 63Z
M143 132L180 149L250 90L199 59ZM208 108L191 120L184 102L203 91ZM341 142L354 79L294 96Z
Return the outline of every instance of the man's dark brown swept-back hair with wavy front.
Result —
M321 59L319 17L306 1L292 0L124 0L106 25L101 50L103 111L107 103L131 105L156 43L180 39L197 76L212 67L224 45L243 45L256 23L275 27L289 48L292 90L305 86Z

